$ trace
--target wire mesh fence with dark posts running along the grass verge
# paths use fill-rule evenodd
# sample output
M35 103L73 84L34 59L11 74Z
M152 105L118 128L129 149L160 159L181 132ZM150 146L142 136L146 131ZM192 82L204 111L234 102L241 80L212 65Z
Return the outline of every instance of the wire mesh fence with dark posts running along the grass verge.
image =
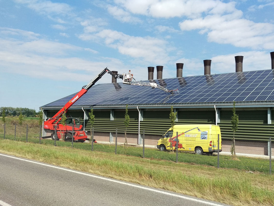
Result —
M42 138L42 127L3 124L0 138L98 152L273 174L274 138L93 128L87 140ZM94 139L92 141L92 139Z

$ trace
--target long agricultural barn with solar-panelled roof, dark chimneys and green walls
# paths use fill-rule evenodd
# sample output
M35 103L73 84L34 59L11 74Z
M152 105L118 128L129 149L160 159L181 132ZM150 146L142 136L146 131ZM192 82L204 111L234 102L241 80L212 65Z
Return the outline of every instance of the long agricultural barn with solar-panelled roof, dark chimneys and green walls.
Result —
M130 124L127 130L136 133L132 140L136 145L142 143L143 130L164 133L170 128L169 113L173 106L177 112L176 124L219 125L222 149L229 152L233 135L230 121L235 101L236 114L239 115L236 146L246 148L249 153L260 147L254 150L255 153L267 155L269 137L274 135L274 52L270 52L270 57L272 68L268 70L242 71L243 56L236 56L235 73L214 75L210 74L211 60L204 60L204 75L190 77L182 76L183 63L177 63L177 76L170 79L162 79L163 66L157 66L157 79L154 80L154 67L148 67L148 80L142 82L178 90L165 92L153 87L117 83L117 79L112 78L112 83L90 88L67 114L81 119L84 129L90 130L88 113L93 108L94 128L125 130L125 107L128 104ZM55 115L75 94L42 106L45 118ZM106 132L105 141L113 141L112 136ZM152 144L156 145L159 138L154 137Z

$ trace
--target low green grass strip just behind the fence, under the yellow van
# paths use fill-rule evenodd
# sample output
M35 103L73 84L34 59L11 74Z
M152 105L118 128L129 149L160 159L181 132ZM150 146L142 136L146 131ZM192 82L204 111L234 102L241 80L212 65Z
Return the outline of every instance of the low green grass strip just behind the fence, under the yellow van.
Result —
M28 137L28 142L39 143L39 138L33 138L33 136L38 137L37 135L32 135L32 137ZM4 134L0 134L0 138L3 138ZM14 140L14 135L5 135L6 139ZM17 141L26 141L26 137L16 137ZM53 140L41 140L42 144L53 145ZM71 147L71 142L61 142L56 141L57 146L62 147ZM73 143L73 147L76 149L84 149L91 150L91 144L89 143ZM115 145L109 144L93 144L94 151L101 152L115 152ZM117 154L130 155L135 157L143 156L142 147L117 147ZM176 153L172 152L161 152L158 149L150 149L145 148L145 158L150 159L159 159L159 160L169 160L176 161ZM231 169L240 169L245 171L253 171L253 172L263 172L265 174L269 174L269 160L267 159L259 159L259 158L247 158L247 157L238 157L238 160L233 160L231 156L220 155L219 156L219 167L220 168L231 168ZM215 166L217 167L217 156L216 155L196 155L189 152L179 152L178 153L178 162L198 164L198 165L207 165L207 166ZM274 161L272 167L272 174L274 174Z

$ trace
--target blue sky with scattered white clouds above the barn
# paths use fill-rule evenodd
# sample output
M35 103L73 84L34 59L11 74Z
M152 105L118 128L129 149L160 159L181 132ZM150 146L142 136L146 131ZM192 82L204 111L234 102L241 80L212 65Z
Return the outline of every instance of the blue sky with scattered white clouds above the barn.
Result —
M39 107L81 90L102 69L147 80L271 69L274 1L0 0L0 107ZM97 83L111 83L105 74ZM117 82L122 82L118 79ZM101 91L104 92L104 91Z

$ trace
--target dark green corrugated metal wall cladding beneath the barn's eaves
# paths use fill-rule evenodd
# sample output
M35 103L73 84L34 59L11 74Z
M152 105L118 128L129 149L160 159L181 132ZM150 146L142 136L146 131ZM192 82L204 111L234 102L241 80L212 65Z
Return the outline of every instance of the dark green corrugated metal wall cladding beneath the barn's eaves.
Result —
M114 111L114 121L110 121L110 110L93 110L95 123L93 127L109 129L125 129L124 116L125 111ZM57 112L57 110L56 110ZM48 112L47 116L51 117L56 112ZM88 110L87 112L90 112ZM145 110L143 112L143 121L140 121L140 130L152 130L164 133L170 128L169 119L170 110ZM243 111L236 110L239 115L239 126L236 136L258 136L269 137L274 135L274 124L267 124L267 110ZM84 123L84 113L82 110L69 110L69 117L76 117ZM130 124L128 130L138 130L138 111L129 110ZM222 135L233 135L231 130L232 111L220 111L220 123ZM274 123L274 112L272 112L272 123ZM215 124L215 111L178 111L178 122L176 124ZM85 129L90 129L90 123L85 120Z

